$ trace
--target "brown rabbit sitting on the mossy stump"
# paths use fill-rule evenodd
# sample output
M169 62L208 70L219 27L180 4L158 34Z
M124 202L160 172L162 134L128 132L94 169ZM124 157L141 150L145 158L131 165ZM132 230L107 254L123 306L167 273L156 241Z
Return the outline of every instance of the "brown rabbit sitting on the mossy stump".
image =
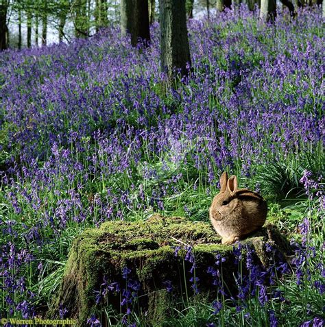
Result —
M228 179L226 171L220 177L220 193L209 209L210 221L222 237L222 244L232 244L254 232L265 223L265 199L247 189L237 189L237 177Z

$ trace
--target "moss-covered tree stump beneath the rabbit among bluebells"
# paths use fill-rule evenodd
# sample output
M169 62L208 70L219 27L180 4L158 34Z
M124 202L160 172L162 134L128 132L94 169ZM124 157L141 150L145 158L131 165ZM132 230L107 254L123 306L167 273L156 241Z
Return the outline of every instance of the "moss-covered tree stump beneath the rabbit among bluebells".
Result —
M234 284L233 246L221 245L220 238L210 223L192 222L180 217L154 216L147 221L112 221L103 223L99 229L85 230L73 242L67 266L64 271L60 292L50 313L57 314L61 305L68 310L67 316L78 319L78 326L86 325L92 315L100 317L103 303L96 304L96 293L103 280L118 282L125 288L123 268L128 267L128 278L139 281L138 302L141 311L147 312L150 326L169 314L185 289L193 295L190 278L192 263L184 261L186 250L175 255L175 247L187 244L193 248L195 276L200 278L200 296L212 300L216 295L213 277L207 273L208 267L215 265L215 257L221 254L226 284ZM265 244L271 243L280 252L289 251L289 243L273 226L267 226L241 242L254 248L256 259L267 266L271 254L265 251ZM166 291L166 281L173 287L173 294ZM119 313L120 295L108 295L108 304ZM97 301L98 302L98 301ZM107 302L106 302L107 306ZM122 312L125 308L122 307ZM105 317L101 315L101 319Z

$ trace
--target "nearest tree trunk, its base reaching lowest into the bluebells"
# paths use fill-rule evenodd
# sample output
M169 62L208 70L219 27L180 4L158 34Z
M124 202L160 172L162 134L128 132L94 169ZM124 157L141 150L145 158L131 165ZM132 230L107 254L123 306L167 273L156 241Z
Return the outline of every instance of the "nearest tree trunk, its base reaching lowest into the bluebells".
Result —
M160 49L162 71L169 77L173 75L173 69L182 75L189 74L191 56L185 0L160 0Z

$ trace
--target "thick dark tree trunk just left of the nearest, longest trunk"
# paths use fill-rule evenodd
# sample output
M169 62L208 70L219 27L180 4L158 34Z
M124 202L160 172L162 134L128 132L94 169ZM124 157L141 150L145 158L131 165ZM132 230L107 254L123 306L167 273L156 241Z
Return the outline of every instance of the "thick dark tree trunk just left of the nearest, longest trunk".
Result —
M150 40L147 0L121 0L121 33L131 34L133 47L139 43L139 39L147 45Z

